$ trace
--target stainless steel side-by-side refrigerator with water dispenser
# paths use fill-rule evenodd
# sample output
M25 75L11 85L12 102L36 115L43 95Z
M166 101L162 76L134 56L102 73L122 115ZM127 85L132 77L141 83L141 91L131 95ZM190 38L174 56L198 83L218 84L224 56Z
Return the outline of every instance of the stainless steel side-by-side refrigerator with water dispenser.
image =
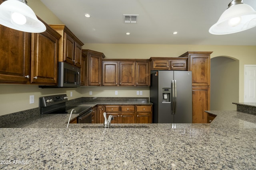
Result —
M153 123L192 123L192 72L151 71Z

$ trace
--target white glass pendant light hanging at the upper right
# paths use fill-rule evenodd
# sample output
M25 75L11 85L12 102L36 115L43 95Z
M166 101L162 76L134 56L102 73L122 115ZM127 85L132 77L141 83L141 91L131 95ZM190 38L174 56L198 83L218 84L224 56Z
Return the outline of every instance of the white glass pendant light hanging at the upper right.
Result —
M244 31L255 26L255 10L242 3L242 0L232 0L217 23L210 27L209 32L215 35L224 35Z

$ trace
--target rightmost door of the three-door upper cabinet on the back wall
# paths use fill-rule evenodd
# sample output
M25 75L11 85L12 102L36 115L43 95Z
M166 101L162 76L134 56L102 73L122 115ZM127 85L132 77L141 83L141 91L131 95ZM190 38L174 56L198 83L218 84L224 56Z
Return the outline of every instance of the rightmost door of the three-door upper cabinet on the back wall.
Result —
M136 86L149 86L148 65L148 62L136 62Z

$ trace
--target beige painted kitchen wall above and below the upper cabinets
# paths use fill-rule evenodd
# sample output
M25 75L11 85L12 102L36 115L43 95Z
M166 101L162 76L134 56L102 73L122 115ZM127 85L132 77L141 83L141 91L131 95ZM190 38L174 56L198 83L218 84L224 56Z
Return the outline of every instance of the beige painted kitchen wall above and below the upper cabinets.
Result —
M40 0L27 0L28 5L42 20L49 24L60 21ZM72 31L72 30L71 30ZM79 38L79 37L78 37ZM229 56L239 60L239 102L243 102L244 64L256 64L256 46L218 45L149 45L149 44L85 44L83 49L103 52L108 59L149 59L150 57L178 57L186 51L213 51L211 57ZM227 78L228 81L228 78ZM115 95L118 90L118 95ZM89 95L92 91L93 95ZM142 91L137 96L136 91ZM70 97L70 92L73 96ZM40 89L35 85L0 85L0 115L38 107L38 98L54 94L67 94L71 99L84 97L149 97L148 87L80 87ZM29 104L29 96L35 96L35 103Z

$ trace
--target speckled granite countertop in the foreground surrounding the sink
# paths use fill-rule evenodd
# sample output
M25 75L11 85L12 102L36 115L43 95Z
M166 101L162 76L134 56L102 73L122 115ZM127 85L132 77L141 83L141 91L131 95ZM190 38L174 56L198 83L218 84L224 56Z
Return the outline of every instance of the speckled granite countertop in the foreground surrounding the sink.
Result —
M0 128L0 169L255 169L256 116L208 113L217 115L209 124L66 129L69 115L50 115Z

